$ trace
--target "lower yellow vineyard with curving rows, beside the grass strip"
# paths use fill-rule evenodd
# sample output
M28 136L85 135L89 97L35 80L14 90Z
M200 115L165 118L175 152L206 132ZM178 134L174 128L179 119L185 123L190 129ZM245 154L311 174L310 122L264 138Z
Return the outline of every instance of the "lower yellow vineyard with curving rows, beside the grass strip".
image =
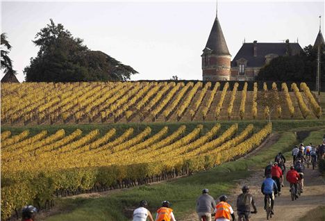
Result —
M272 124L237 123L180 125L173 131L161 126L155 133L149 126L86 134L43 130L33 136L28 130L3 131L1 215L8 218L30 202L49 204L53 193L129 187L206 170L251 152L271 132Z

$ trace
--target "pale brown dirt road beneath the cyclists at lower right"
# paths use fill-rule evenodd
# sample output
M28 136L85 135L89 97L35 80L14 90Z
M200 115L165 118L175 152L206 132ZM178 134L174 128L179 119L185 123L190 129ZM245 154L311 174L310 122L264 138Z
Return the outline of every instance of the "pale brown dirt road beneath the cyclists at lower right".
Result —
M287 168L290 168L290 164L287 165ZM264 197L260 193L264 172L259 170L252 173L253 175L249 179L240 181L240 185L238 185L234 194L229 197L229 202L235 211L235 202L237 195L241 193L241 186L249 184L258 207L258 213L252 214L251 220L267 220L263 209ZM325 205L325 181L323 177L319 176L319 172L316 169L306 168L305 188L296 201L292 202L291 200L289 183L285 181L284 185L284 188L281 189L281 196L275 199L274 216L271 220L297 221L311 209Z

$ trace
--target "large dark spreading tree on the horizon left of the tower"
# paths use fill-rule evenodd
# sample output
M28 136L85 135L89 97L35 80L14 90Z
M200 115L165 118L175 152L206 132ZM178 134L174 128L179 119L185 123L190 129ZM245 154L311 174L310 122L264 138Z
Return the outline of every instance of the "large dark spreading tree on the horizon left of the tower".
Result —
M26 81L125 81L138 73L101 51L91 51L62 24L50 24L36 34L38 56L24 69Z

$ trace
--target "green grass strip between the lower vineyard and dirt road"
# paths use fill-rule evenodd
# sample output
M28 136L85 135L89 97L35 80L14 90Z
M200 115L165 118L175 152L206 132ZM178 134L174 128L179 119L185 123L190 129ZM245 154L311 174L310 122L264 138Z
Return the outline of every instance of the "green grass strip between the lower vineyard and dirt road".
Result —
M57 204L75 206L68 213L53 215L47 220L129 220L138 202L146 199L149 210L156 211L163 200L172 202L176 218L181 219L195 210L195 202L201 189L208 188L210 194L217 198L228 194L239 179L244 179L250 170L263 168L277 152L288 152L297 138L292 132L283 132L271 147L260 149L255 155L224 163L206 172L199 172L190 177L139 186L131 190L124 189L118 193L109 193L99 198L58 199ZM82 203L80 203L82 201ZM232 204L234 202L231 202Z

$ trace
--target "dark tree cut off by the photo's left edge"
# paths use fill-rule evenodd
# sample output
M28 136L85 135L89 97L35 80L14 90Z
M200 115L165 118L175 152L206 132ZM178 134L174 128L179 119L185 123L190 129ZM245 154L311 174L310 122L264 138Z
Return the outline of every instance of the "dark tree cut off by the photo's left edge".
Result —
M7 40L6 33L1 33L1 69L4 74L16 74L16 71L12 69L12 60L8 54L11 49L11 45Z

